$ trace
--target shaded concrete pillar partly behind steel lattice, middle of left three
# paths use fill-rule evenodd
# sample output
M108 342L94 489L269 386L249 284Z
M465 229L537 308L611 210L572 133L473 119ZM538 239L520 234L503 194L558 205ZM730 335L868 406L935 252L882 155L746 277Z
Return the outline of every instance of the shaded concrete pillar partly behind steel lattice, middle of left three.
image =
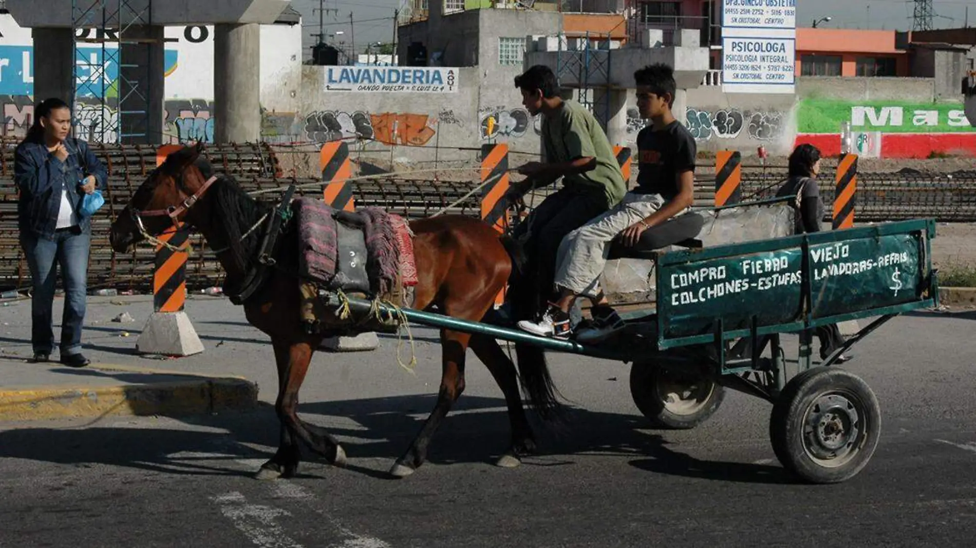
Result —
M163 92L166 85L165 27L129 26L121 38L120 141L127 144L162 144Z

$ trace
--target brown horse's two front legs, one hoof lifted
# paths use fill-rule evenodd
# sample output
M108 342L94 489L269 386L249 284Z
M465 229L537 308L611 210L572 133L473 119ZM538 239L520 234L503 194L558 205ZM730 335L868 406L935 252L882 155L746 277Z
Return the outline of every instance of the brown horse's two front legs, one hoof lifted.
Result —
M346 463L346 452L339 442L324 429L299 418L299 389L305 381L308 364L315 346L309 341L285 342L272 340L278 365L278 399L274 410L281 421L281 445L258 472L259 479L293 476L298 471L301 453L297 440L336 465Z

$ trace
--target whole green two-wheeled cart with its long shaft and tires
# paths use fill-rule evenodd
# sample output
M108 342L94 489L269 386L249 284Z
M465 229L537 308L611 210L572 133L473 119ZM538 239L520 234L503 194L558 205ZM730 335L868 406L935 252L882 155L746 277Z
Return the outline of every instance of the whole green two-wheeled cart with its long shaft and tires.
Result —
M784 467L809 482L835 483L871 459L880 410L871 388L834 363L891 318L938 305L934 237L935 222L920 219L661 253L653 308L596 346L402 313L431 327L630 363L633 401L659 427L700 424L726 388L762 398L773 404L769 435ZM348 300L353 311L373 305ZM816 362L817 328L852 320L870 321ZM798 335L795 359L787 359L785 333Z

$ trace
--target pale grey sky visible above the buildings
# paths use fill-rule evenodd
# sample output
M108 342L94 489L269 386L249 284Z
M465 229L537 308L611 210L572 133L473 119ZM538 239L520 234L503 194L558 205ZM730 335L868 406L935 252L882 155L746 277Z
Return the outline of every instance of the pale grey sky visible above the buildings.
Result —
M316 38L319 22L320 0L292 0L292 7L302 14L305 56ZM438 0L430 0L435 2ZM324 31L334 33L343 31L335 41L350 42L349 14L352 14L351 30L355 34L356 49L362 52L371 42L390 42L393 38L393 10L401 0L324 0ZM932 8L937 16L932 22L936 28L963 26L965 9L969 6L970 22L976 24L976 0L932 0ZM912 0L797 0L796 25L810 26L815 19L831 17L822 26L834 28L885 28L898 30L912 29ZM950 20L947 18L953 18ZM329 39L327 38L327 41Z

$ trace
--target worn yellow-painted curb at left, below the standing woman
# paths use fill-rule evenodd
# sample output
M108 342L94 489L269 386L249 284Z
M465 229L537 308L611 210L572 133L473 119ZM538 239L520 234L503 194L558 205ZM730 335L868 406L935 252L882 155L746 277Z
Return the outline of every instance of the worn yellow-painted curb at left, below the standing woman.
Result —
M240 377L214 377L107 364L89 369L198 378L124 386L0 388L0 420L210 414L248 410L256 407L258 402L257 383Z

